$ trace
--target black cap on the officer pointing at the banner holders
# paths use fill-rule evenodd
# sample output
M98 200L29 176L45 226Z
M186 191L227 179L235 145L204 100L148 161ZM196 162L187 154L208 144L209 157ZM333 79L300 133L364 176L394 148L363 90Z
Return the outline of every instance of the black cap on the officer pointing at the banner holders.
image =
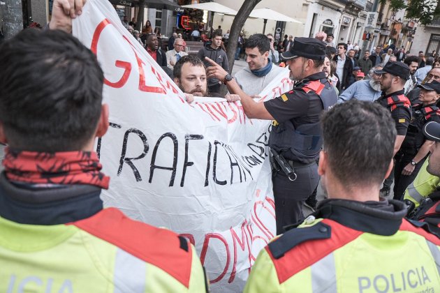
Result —
M316 38L295 38L288 52L281 53L283 59L305 57L312 60L325 59L325 43Z

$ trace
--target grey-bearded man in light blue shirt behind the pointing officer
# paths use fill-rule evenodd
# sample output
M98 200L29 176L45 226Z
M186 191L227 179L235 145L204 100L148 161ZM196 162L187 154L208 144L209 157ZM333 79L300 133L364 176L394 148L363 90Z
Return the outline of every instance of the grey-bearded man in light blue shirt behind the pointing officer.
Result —
M371 79L369 80L360 80L351 84L337 99L337 103L344 103L352 98L356 100L365 100L368 102L373 102L377 98L381 96L381 84L379 83L380 75L376 75L374 73L374 69L379 70L382 69L382 64L378 66L374 66L372 70L370 70L369 76Z

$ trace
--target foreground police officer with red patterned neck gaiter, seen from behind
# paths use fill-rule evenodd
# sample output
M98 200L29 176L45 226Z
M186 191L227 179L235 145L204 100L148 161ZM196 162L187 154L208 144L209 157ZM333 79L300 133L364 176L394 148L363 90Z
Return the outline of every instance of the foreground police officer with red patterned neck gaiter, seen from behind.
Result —
M95 54L61 30L25 29L0 46L0 72L0 292L206 292L189 241L103 209Z

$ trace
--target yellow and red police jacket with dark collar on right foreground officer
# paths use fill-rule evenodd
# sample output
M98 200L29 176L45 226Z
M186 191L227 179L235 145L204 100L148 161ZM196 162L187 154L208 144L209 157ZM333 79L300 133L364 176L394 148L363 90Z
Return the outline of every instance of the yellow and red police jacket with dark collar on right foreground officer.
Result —
M440 239L392 205L328 200L261 251L244 292L439 292Z

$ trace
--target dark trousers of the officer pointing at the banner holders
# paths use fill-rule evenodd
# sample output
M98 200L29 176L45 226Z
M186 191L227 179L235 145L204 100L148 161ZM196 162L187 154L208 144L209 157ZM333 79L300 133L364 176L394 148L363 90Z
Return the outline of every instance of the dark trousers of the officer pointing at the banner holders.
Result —
M284 226L304 220L302 204L319 183L318 165L295 167L297 179L291 181L283 172L273 171L275 216L277 235L284 233Z

